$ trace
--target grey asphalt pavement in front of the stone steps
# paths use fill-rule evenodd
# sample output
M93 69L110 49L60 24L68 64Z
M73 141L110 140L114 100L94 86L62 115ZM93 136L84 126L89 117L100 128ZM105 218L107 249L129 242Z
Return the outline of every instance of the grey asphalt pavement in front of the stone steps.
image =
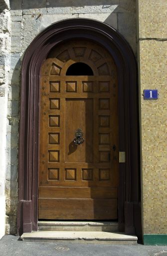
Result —
M167 246L83 244L57 241L21 241L4 235L0 256L167 256Z

